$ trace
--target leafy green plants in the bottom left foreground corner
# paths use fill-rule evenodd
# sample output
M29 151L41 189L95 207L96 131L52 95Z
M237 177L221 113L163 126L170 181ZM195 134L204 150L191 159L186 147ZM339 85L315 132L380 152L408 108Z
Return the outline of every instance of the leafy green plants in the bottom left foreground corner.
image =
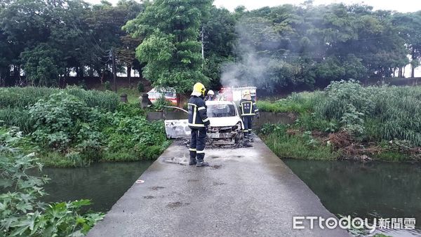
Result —
M15 147L15 130L0 128L0 231L2 236L83 236L103 218L100 212L82 212L89 200L43 203L47 177L27 175L40 169L34 153Z

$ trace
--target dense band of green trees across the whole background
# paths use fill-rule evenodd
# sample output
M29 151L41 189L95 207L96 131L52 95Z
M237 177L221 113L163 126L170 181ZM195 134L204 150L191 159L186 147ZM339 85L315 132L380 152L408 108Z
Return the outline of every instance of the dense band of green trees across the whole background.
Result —
M420 65L421 11L305 1L229 12L212 2L1 1L0 85L55 86L71 73L78 85L83 76L109 81L111 52L119 72L135 69L179 93L196 80L213 89L232 82L224 76L269 91L324 88L403 77L406 65L414 76Z

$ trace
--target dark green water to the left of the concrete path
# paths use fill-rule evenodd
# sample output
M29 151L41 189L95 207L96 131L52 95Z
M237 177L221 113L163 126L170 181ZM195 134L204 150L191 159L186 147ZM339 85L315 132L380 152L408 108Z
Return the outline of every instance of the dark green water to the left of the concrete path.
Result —
M91 199L91 209L107 212L147 170L152 161L94 163L88 168L44 168L51 178L45 201Z

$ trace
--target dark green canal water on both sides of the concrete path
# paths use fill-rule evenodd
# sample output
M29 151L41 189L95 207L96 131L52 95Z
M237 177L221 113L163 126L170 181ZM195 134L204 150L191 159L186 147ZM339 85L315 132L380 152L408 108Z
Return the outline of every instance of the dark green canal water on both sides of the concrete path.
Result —
M389 236L421 236L421 165L352 161L284 162L335 215L415 217L415 230ZM89 198L92 209L107 212L152 162L95 163L88 168L45 168L51 177L46 201ZM364 236L364 234L362 234Z

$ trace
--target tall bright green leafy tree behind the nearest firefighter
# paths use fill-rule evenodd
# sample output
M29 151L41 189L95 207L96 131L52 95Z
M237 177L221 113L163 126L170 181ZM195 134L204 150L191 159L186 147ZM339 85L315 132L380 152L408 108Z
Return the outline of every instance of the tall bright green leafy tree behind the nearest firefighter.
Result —
M132 36L144 39L136 57L146 63L142 74L153 86L173 87L184 93L196 81L208 83L201 69L198 37L211 5L211 0L156 0L123 27Z

